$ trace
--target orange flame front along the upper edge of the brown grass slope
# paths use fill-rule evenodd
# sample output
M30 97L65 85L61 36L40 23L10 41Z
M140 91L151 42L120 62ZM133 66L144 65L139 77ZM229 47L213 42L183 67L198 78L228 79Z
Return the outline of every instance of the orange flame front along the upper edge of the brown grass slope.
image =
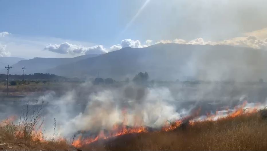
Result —
M256 104L252 109L246 110L244 109L247 105L247 102L245 101L242 105L236 106L234 110L229 111L228 109L225 111L217 111L215 114L207 114L207 116L204 119L201 119L201 121L205 120L217 120L219 118L235 118L237 116L243 115L243 114L251 114L255 113L258 111L258 107L260 104ZM168 121L164 124L164 126L161 128L162 131L168 132L171 130L174 130L181 126L183 121L187 121L189 125L193 125L197 121L197 117L199 116L200 113L200 108L192 112L190 116L187 116L183 119L175 120L175 121ZM223 113L226 114L223 114ZM125 115L125 113L123 114ZM125 124L125 119L123 120L123 124ZM108 136L106 136L103 131L99 133L99 135L95 138L86 138L82 139L82 136L80 136L78 139L74 140L73 146L75 147L81 147L85 144L90 144L92 142L95 142L99 139L108 139L111 137L116 137L120 135L125 135L125 134L132 134L132 133L147 133L148 129L146 127L140 126L140 127L134 127L134 128L126 128L125 125L122 126L123 128L120 128L119 125L114 125L112 132Z

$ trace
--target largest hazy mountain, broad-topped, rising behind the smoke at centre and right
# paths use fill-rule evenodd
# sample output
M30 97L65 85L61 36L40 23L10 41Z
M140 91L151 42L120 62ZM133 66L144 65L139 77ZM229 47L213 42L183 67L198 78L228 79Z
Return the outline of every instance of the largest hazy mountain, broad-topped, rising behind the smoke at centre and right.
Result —
M133 78L147 71L150 80L258 80L267 77L267 52L229 45L157 44L125 47L47 70L68 77Z

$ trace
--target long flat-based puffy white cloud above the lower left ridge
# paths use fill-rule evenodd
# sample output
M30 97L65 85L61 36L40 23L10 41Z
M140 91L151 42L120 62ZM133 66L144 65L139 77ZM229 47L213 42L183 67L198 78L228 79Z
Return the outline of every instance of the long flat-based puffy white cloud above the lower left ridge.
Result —
M92 47L83 47L80 45L73 45L68 42L61 43L59 45L47 45L44 50L60 53L60 54L101 54L106 53L107 50L103 45L96 45Z

